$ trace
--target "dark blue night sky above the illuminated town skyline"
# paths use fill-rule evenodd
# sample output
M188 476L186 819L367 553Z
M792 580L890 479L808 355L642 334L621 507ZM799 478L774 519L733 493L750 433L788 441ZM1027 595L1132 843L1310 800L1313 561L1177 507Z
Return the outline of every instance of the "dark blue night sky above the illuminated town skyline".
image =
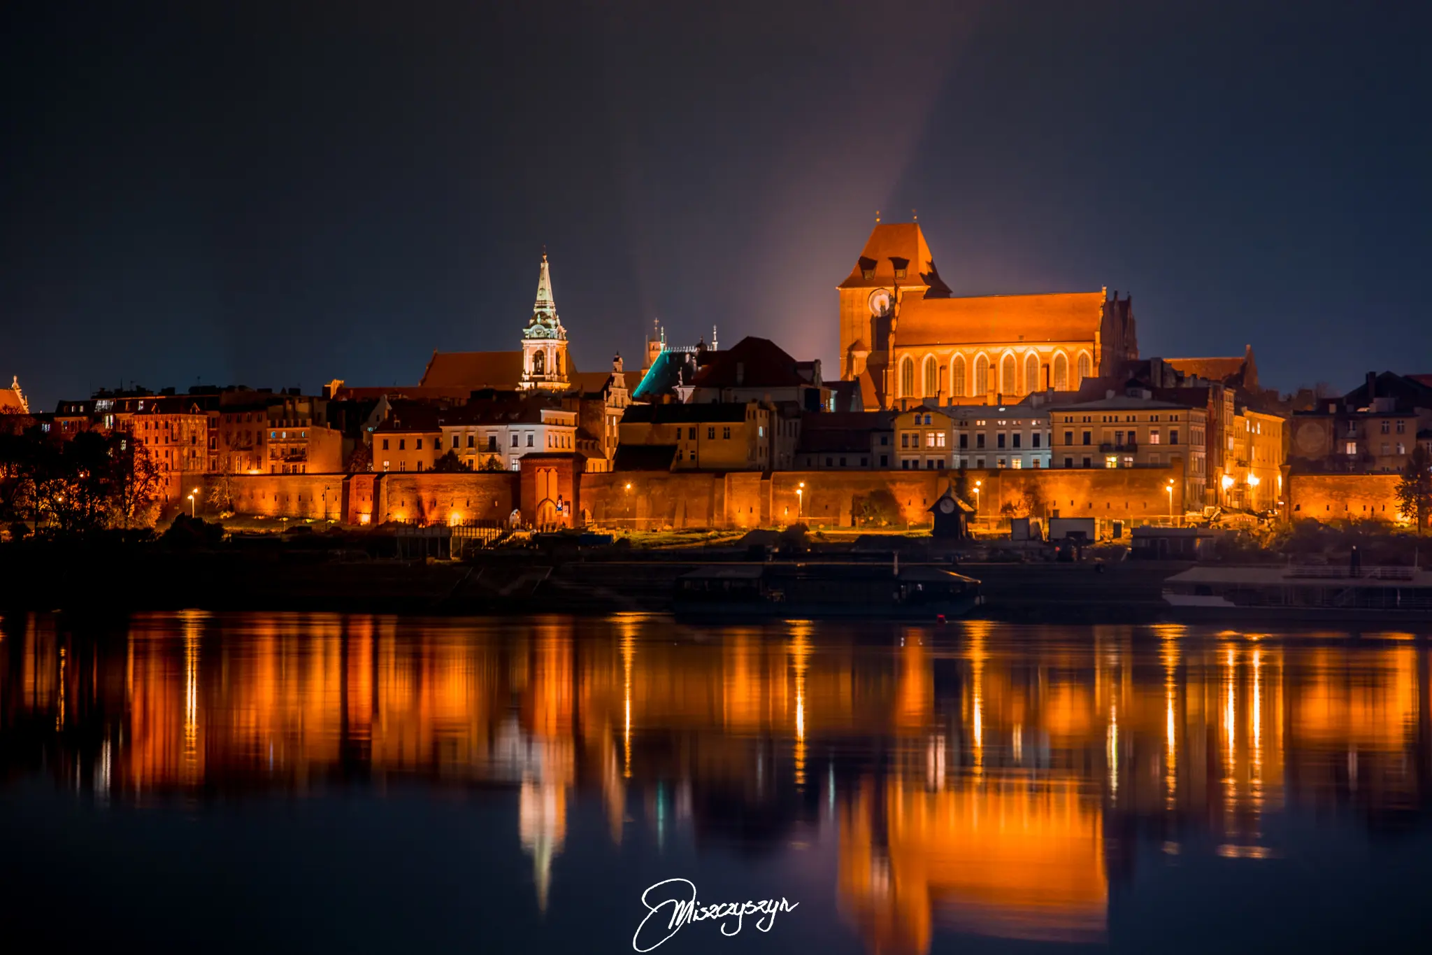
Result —
M957 294L1133 292L1151 355L1432 372L1418 3L0 6L0 374L411 384L773 338L919 213Z

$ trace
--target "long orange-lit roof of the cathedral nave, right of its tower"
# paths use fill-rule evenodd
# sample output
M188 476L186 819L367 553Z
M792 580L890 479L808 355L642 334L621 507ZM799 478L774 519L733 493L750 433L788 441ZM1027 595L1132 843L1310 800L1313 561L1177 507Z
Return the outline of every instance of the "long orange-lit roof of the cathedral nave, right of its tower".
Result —
M1093 342L1104 319L1106 299L1103 291L977 298L904 295L895 345L1004 344L1015 335L1027 344Z

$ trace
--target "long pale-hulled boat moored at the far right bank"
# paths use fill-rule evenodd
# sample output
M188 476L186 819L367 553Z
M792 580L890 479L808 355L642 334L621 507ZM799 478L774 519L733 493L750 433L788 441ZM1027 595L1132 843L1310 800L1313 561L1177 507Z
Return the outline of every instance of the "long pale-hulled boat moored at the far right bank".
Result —
M1432 571L1418 567L1191 567L1164 581L1189 620L1432 623Z

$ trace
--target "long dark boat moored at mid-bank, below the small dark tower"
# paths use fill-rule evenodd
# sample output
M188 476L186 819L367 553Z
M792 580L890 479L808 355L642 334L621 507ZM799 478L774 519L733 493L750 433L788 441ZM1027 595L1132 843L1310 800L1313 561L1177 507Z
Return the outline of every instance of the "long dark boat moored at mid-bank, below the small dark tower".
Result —
M679 619L952 620L982 603L979 581L914 564L713 564L676 580Z

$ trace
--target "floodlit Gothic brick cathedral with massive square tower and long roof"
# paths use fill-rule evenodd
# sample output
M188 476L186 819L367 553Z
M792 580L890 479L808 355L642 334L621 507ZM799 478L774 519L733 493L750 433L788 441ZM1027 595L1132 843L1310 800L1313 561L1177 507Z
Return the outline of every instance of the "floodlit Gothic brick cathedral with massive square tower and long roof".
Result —
M841 378L866 408L1014 402L1138 358L1131 298L952 294L915 222L876 223L841 292Z

